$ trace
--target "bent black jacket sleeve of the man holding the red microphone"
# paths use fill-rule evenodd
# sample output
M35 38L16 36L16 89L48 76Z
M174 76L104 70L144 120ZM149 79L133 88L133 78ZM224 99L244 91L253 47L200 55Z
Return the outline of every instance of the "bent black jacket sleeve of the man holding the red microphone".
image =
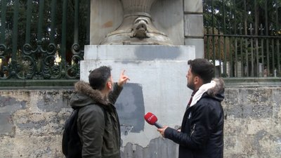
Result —
M212 125L214 125L216 120L217 118L211 105L203 103L192 110L191 126L185 124L185 129L181 129L181 132L167 128L164 136L179 145L191 149L200 149L206 145L213 128ZM190 131L190 133L186 133L185 131Z

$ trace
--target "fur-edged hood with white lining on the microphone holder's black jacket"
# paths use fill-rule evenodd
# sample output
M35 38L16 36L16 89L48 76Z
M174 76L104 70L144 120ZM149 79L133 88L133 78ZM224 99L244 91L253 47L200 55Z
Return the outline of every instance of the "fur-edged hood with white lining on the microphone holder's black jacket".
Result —
M224 98L224 81L223 79L213 79L208 84L203 84L200 86L198 91L193 96L192 102L190 104L190 107L192 105L195 105L200 98L203 97L211 97L215 98L218 101L222 101Z

